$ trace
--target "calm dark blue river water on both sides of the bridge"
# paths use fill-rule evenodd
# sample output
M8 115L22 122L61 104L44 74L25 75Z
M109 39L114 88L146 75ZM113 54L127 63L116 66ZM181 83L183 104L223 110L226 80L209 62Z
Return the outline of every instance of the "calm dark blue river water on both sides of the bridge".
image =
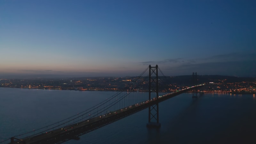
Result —
M115 93L0 88L0 141L73 116ZM255 144L256 98L203 94L192 99L184 93L159 103L160 129L148 129L147 122L145 109L65 144Z

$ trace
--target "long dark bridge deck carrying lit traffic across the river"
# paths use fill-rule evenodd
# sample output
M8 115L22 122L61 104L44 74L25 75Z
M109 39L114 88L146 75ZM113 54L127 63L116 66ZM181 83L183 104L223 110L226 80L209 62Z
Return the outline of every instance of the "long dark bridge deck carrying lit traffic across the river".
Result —
M122 119L124 117L130 116L134 113L137 113L143 109L148 108L151 105L157 104L159 102L162 102L164 100L170 99L172 97L175 97L181 93L187 92L189 90L192 90L193 88L203 86L197 85L192 86L183 90L180 90L178 92L172 92L169 94L165 94L162 96L159 96L157 98L153 98L151 100L143 101L134 105L131 105L126 108L118 109L114 112L97 116L88 120L85 120L83 122L68 125L66 127L63 127L61 129L57 129L50 132L45 132L40 135L36 135L33 137L28 137L23 140L16 140L12 141L12 143L23 143L23 144L53 144L53 143L63 143L65 141L74 139L79 140L79 136L91 132L93 130L96 130L102 126L105 126L107 124L113 123L119 119Z

